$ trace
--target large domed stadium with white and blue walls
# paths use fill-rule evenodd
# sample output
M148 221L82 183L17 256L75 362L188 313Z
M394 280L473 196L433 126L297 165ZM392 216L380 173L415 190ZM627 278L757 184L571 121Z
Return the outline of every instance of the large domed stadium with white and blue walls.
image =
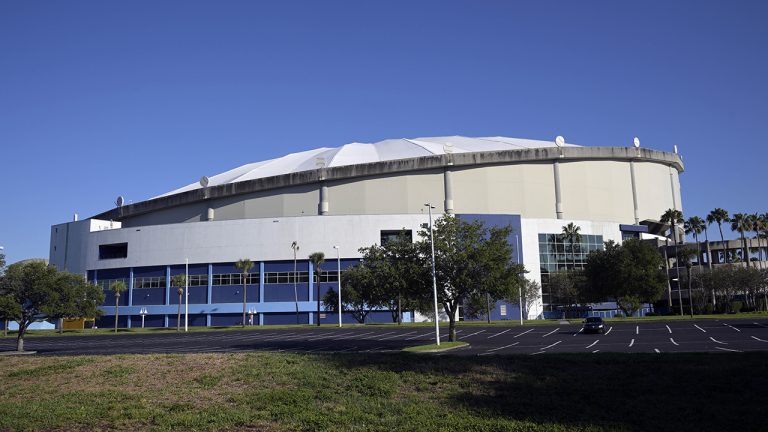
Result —
M258 150L254 150L258 158ZM634 147L582 147L505 137L391 139L319 148L256 162L161 196L116 207L51 228L50 262L87 275L105 288L125 280L120 325L175 326L178 295L171 277L189 260L191 325L242 320L242 280L234 262L256 263L248 306L259 324L333 322L316 316L312 266L326 256L321 293L336 287L341 267L359 262L358 248L381 243L401 229L415 237L427 222L425 203L442 213L511 224L510 238L529 278L542 281L541 316L556 303L546 289L550 272L583 265L604 241L652 237L666 209L681 209L675 153ZM559 233L581 227L575 248ZM299 245L294 291L292 242ZM519 244L519 247L517 246ZM107 292L110 326L114 298ZM494 319L515 319L514 303L499 302ZM391 320L389 312L373 321ZM406 319L413 319L409 314ZM351 320L351 317L345 317Z

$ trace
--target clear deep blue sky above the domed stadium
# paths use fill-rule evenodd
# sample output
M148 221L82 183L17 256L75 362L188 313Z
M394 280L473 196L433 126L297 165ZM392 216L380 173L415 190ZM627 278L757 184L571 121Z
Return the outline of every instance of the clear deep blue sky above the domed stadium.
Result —
M673 4L670 4L673 3ZM765 212L765 1L4 1L0 245L248 162L434 135L677 144Z

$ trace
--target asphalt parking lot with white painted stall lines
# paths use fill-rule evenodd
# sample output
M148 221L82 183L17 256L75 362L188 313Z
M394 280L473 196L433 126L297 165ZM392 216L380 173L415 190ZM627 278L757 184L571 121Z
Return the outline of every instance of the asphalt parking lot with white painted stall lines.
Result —
M447 327L441 327L447 340ZM768 350L768 319L649 321L607 323L605 334L584 334L581 324L531 326L461 326L459 340L468 347L435 355L547 355L549 353L738 353ZM28 337L27 350L39 355L108 355L200 352L397 352L434 341L434 328L349 326ZM0 351L15 349L15 339L0 340Z

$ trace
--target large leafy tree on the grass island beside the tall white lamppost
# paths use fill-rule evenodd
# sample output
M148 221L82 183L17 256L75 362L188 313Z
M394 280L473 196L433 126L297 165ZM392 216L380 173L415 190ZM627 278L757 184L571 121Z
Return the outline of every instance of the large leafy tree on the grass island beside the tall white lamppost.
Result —
M467 222L451 215L435 221L437 300L448 315L449 341L456 340L459 306L470 298L488 295L495 303L517 294L522 266L512 262L512 247L507 241L511 232L511 227L487 229L480 221ZM422 256L429 257L429 230L421 230L419 236L422 240L417 247ZM422 304L428 304L431 280L423 280L422 287Z

